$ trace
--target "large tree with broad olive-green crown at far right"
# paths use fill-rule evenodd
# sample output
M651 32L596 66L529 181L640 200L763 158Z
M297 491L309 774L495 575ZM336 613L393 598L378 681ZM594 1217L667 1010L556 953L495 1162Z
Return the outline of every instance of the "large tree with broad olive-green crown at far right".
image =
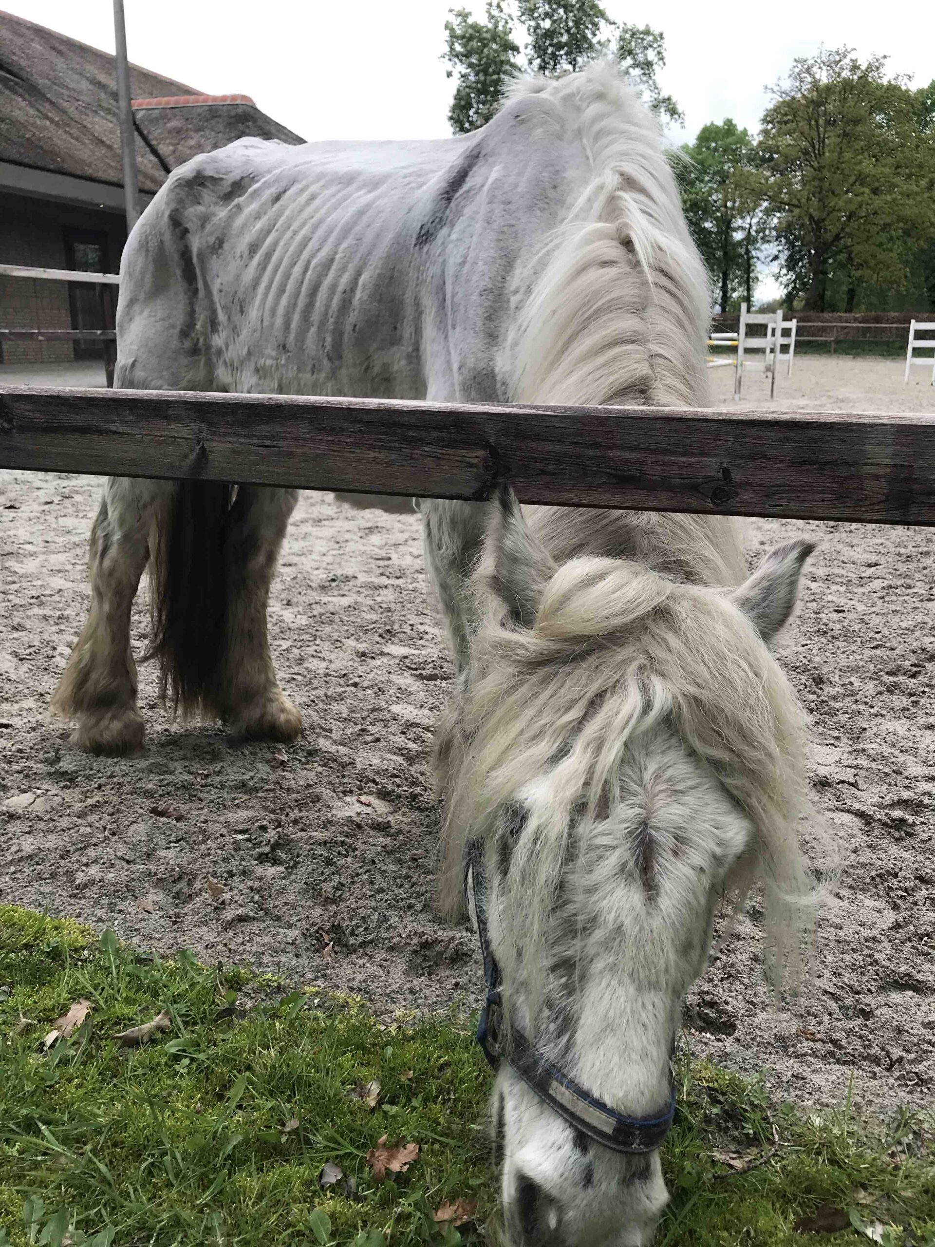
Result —
M885 57L822 49L773 89L759 148L762 193L790 294L824 311L834 266L899 287L935 224L935 146L921 104Z

